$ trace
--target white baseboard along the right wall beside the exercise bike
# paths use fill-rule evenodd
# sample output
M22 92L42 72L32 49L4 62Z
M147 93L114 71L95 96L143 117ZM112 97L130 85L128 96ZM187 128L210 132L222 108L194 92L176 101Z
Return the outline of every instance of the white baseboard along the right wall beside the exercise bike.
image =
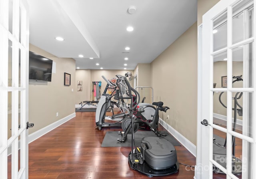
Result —
M165 128L168 129L168 132L170 132L176 140L178 140L192 155L196 157L196 145L194 145L192 142L190 142L186 137L181 135L178 131L176 131L173 127L171 127L169 124L164 122L163 119L159 118L159 123Z

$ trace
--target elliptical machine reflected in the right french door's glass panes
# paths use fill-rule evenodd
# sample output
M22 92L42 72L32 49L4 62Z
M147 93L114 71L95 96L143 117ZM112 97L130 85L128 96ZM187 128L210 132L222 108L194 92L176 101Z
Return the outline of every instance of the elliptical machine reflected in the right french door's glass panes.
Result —
M239 82L242 81L242 75L240 76L233 76L233 82ZM227 106L222 102L221 97L222 94L224 93L224 91L222 91L219 95L219 101L222 104L223 107L227 108ZM242 106L238 103L238 99L240 99L242 97L243 93L242 92L237 92L236 95L233 97L234 99L234 107L232 108L232 110L234 111L234 121L233 121L233 127L232 127L232 131L236 131L236 121L237 121L237 114L239 116L243 115L243 108ZM224 144L220 141L216 141L215 138L213 138L213 159L218 162L220 165L222 165L223 167L226 167L226 142L227 142L227 138L225 139ZM242 173L242 161L240 159L238 159L235 156L235 147L236 147L236 141L235 141L235 137L232 136L232 173L233 174L239 174ZM214 166L214 171L222 173L222 171L220 171L220 169L218 169L217 167Z

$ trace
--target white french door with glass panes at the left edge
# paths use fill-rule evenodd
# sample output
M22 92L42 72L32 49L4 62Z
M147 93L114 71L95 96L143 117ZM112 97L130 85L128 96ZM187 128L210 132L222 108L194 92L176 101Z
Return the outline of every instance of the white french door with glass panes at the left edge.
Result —
M26 0L0 0L1 179L28 179L28 41Z

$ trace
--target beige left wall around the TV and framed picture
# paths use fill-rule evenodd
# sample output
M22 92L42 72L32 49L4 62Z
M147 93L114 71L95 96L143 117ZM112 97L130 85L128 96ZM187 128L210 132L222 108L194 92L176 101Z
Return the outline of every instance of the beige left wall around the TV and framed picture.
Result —
M72 58L57 58L32 44L30 51L56 63L56 74L52 74L52 82L29 82L28 116L30 123L34 123L29 133L33 133L75 112L75 93L72 89L75 91L76 87L76 64ZM64 72L71 74L71 86L64 86Z

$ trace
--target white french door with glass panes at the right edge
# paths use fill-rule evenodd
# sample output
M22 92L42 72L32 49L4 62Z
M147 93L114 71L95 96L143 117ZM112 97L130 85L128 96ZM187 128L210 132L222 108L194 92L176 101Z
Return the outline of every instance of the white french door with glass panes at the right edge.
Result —
M255 2L221 0L203 16L196 179L256 178Z

